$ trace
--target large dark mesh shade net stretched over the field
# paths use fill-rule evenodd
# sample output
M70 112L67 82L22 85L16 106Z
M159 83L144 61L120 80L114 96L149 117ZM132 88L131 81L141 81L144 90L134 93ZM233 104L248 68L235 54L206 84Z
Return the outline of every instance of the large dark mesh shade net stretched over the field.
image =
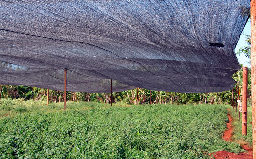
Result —
M230 90L250 0L1 1L0 83L67 91Z

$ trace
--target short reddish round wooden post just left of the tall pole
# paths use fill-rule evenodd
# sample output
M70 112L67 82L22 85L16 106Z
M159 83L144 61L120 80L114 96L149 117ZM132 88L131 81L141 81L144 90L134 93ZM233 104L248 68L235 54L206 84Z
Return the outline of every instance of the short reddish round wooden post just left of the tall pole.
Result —
M242 134L247 135L247 89L248 89L248 68L243 67L243 98L242 98Z

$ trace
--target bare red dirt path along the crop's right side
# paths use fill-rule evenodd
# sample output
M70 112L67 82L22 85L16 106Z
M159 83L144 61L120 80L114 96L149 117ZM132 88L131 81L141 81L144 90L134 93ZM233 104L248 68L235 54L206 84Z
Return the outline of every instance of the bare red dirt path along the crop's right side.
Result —
M230 111L230 109L228 109L228 111ZM229 113L228 113L228 120L229 120L227 123L228 129L224 131L224 134L222 136L222 139L225 141L231 141L232 132L233 132L232 124L231 124L233 119ZM217 151L213 153L213 157L215 159L252 159L253 158L252 149L248 147L248 145L243 145L242 148L248 151L248 153L235 154L235 153L231 153L223 150L223 151Z

